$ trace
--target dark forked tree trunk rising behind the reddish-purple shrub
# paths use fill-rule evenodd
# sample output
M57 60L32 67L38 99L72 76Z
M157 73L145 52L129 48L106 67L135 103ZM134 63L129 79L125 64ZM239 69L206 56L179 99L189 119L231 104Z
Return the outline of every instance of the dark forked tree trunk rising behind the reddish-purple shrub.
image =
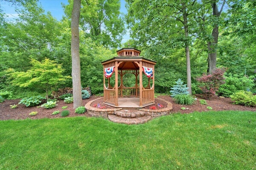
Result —
M216 4L216 0L212 2L212 15L214 17L220 17L223 6L225 4L225 0L223 0L222 7L220 11L218 10L218 6ZM219 26L218 24L214 24L214 28L212 29L212 42L208 42L208 72L211 73L216 69L216 61L217 61L217 45L218 45L218 37L219 37Z

